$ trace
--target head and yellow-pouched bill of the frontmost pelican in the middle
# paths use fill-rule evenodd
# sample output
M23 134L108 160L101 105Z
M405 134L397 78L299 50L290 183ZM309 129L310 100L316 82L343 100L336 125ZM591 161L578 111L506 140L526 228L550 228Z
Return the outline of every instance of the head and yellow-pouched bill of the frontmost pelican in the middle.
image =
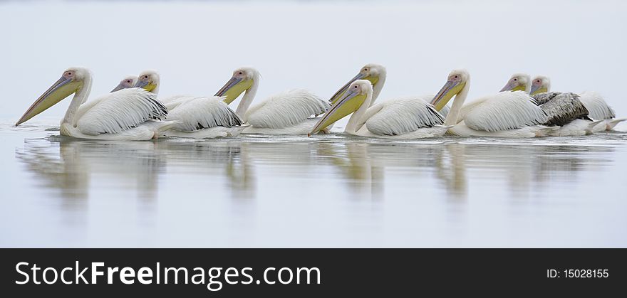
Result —
M328 110L326 114L316 123L314 129L307 134L315 134L325 129L329 125L337 122L339 119L346 117L358 110L363 102L366 101L368 96L372 97L373 87L369 80L356 80L351 85L348 85L346 92L343 92L340 98L333 104L331 110Z

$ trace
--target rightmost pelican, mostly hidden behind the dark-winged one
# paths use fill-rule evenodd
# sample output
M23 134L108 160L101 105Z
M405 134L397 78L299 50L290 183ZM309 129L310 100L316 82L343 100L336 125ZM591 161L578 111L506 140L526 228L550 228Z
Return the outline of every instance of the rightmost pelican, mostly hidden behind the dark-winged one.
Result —
M537 87L536 87L537 86ZM549 92L551 90L551 80L544 76L539 75L534 78L531 94L536 95L541 92ZM616 113L610 107L603 97L594 91L586 91L579 93L579 100L584 104L584 107L589 112L589 117L594 120L601 120L594 128L592 132L602 132L604 130L612 130L616 127L616 124L627 120L627 118L616 119Z

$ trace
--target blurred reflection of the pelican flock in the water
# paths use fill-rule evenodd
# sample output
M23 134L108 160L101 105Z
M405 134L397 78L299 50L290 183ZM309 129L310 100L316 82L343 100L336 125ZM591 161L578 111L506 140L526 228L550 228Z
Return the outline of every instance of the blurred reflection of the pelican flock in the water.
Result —
M288 139L289 140L289 139ZM227 139L202 142L101 142L50 137L26 139L16 153L45 188L76 204L89 196L91 179L137 191L154 200L159 181L170 175L225 178L234 198L254 198L256 167L276 174L301 175L336 169L331 176L313 175L311 183L344 179L356 196L383 196L385 173L408 183L432 176L447 198L466 198L470 179L505 180L512 196L526 197L551 183L576 180L586 167L611 162L603 154L612 147L536 144L436 144L346 142L267 142L266 139ZM597 157L601 156L601 157ZM317 177L317 178L316 178Z

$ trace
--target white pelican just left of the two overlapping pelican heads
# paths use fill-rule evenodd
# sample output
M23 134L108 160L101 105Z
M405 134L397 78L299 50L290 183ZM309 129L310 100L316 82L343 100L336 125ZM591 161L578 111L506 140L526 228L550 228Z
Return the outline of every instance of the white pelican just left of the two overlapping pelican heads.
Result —
M288 90L271 95L250 107L261 76L254 68L238 68L215 96L230 104L244 93L236 114L249 125L244 134L306 134L330 105L306 90ZM249 108L250 107L250 108ZM314 116L314 117L311 117Z

